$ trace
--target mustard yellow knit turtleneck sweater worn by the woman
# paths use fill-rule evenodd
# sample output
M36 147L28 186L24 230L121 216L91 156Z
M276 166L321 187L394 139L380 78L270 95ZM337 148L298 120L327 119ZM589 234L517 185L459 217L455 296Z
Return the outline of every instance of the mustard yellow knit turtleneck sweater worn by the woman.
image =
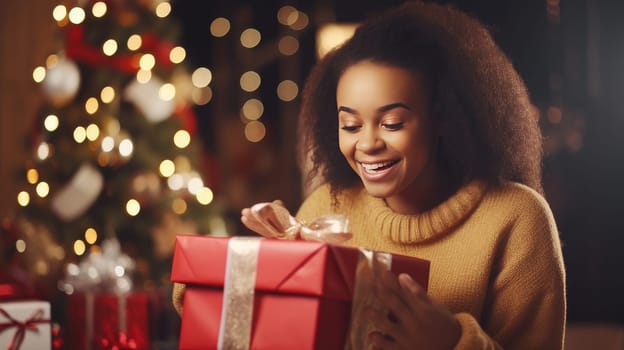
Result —
M562 349L565 272L555 221L532 189L472 182L444 203L401 215L362 188L332 206L329 186L304 201L297 218L349 217L345 244L431 261L428 295L459 321L456 349Z

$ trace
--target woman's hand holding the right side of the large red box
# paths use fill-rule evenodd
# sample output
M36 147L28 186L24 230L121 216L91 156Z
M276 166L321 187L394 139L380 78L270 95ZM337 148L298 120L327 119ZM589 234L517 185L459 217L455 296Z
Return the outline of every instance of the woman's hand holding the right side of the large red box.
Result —
M369 308L366 316L374 331L368 349L453 349L461 326L443 305L431 300L409 275L397 278L379 269L376 294L384 311Z

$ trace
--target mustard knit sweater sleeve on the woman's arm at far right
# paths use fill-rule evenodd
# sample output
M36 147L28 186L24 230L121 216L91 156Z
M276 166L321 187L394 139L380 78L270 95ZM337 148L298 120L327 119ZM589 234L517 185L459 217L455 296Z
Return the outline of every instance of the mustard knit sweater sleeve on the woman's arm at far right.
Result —
M498 241L482 319L456 315L462 326L457 350L563 347L565 273L557 229L545 200L522 193L514 201L518 214L510 215Z

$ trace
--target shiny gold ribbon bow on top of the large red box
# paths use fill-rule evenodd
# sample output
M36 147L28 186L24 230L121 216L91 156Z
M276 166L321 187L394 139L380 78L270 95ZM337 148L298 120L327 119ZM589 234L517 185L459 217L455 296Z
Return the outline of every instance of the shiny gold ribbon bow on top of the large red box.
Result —
M281 205L267 202L253 205L251 214L267 231L259 233L268 238L305 239L337 244L353 236L349 232L349 219L344 215L324 215L306 224L292 217Z

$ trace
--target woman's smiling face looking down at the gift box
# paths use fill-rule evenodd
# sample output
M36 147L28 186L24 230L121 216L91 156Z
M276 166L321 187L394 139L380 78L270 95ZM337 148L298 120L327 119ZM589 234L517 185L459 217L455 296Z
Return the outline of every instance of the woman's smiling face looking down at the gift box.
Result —
M424 79L362 61L342 74L336 100L340 151L366 190L397 212L422 211L436 185Z

